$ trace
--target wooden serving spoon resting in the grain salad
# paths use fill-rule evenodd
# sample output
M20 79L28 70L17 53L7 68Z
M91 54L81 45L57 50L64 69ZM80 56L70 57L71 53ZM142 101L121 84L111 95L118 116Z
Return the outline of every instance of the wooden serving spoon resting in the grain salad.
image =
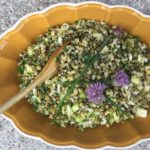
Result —
M12 107L14 104L19 102L25 95L27 95L32 89L34 89L36 86L47 80L48 78L51 78L54 76L58 71L58 64L56 63L55 58L62 52L63 48L68 44L69 42L66 42L64 45L62 45L60 48L55 50L52 54L52 56L49 58L48 62L42 69L42 71L39 73L39 75L35 78L33 82L31 82L26 88L21 90L17 95L10 98L7 102L0 105L0 114L8 110L10 107Z

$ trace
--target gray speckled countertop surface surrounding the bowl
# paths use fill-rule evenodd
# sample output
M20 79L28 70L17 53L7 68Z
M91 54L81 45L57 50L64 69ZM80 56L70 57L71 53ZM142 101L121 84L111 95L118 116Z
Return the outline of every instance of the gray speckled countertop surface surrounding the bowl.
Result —
M82 0L0 0L0 33L6 31L19 18L30 12L59 2L80 2ZM150 15L150 0L98 0L107 4L127 5ZM0 116L0 150L59 150L45 143L25 137L18 133L10 122ZM74 149L74 148L68 148ZM107 149L112 150L112 149ZM143 142L130 149L124 150L150 150L150 141Z

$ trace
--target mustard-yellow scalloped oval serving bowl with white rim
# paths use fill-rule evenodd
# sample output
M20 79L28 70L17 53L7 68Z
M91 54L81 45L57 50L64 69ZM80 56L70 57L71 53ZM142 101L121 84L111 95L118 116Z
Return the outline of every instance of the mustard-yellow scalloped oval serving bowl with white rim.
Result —
M98 2L79 4L62 3L32 13L0 37L0 104L19 91L17 61L19 54L49 27L71 23L77 19L96 19L122 26L150 46L150 17L124 6L108 6ZM22 100L4 113L23 133L59 146L100 148L124 147L150 137L150 113L147 118L136 118L110 128L99 126L84 132L75 127L60 128L50 124L47 117L35 113L32 106Z

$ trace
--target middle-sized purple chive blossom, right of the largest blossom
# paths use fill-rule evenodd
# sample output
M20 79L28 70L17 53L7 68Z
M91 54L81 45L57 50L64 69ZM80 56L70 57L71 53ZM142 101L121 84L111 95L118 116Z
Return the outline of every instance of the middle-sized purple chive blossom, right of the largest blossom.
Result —
M124 70L116 72L114 76L114 84L116 86L125 86L129 84L128 75L124 72Z

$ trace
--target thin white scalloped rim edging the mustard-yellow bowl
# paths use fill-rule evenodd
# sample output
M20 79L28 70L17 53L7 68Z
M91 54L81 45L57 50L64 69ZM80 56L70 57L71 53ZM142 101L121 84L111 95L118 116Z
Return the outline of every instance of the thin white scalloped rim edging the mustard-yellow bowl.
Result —
M103 5L104 7L107 7L107 8L126 8L126 9L129 9L129 10L132 10L134 11L136 14L140 15L141 17L143 18L148 18L150 19L150 15L146 15L146 14L143 14L142 12L136 10L135 8L132 8L130 6L124 6L124 5L108 5L108 4L105 4L105 3L102 3L102 2L96 2L96 1L88 1L88 2L79 2L79 3L58 3L58 4L53 4L53 5L50 5L49 7L46 7L45 9L41 10L41 11L36 11L36 12L32 12L32 13L29 13L23 17L21 17L12 27L10 27L8 30L6 30L5 32L3 32L1 35L0 35L0 39L2 39L5 35L7 35L9 32L15 30L17 28L17 26L22 22L24 21L25 19L27 19L28 17L30 16L33 16L33 15L38 15L38 14L44 14L46 12L48 12L50 9L53 9L55 7L59 7L59 6L72 6L72 7L77 7L77 6L80 6L80 5L84 5L84 4L98 4L98 5ZM17 128L17 125L14 123L14 121L7 117L6 115L4 114L1 114L1 116L3 118L5 118L6 120L8 120L12 125L13 127L20 133L22 134L23 136L26 136L28 138L32 138L32 139L36 139L36 140L39 140L49 146L53 146L53 147L56 147L56 148L80 148L80 149L84 149L84 148L81 148L79 146L76 146L76 145L65 145L65 146L59 146L59 145L55 145L55 144L51 144L51 143L48 143L47 141L45 141L44 139L42 139L41 137L38 137L38 136L34 136L34 135L29 135L25 132L23 132L21 129ZM117 147L117 146L112 146L112 145L106 145L106 146L103 146L101 148L96 148L95 150L97 149L106 149L106 148L118 148L118 149L124 149L124 148L132 148L142 142L146 142L146 141L150 141L150 138L141 138L141 139L137 139L135 141L135 143L131 144L131 145L128 145L128 146L122 146L122 147ZM86 148L87 149L87 148Z

